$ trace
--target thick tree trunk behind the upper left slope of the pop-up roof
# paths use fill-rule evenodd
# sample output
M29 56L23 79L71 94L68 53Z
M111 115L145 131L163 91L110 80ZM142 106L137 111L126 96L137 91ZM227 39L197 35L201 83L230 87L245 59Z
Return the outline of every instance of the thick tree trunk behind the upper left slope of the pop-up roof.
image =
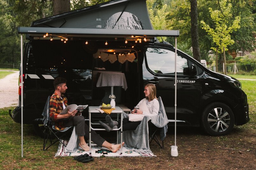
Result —
M70 11L70 0L53 0L53 15Z

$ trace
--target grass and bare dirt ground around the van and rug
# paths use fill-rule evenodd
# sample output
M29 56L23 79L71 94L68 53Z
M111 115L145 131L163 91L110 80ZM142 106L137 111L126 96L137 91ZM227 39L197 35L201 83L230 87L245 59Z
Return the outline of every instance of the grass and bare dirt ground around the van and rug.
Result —
M150 148L153 153L157 153L157 157L100 157L80 163L72 157L55 158L58 144L43 151L43 139L36 136L32 125L24 125L22 158L21 125L15 123L8 114L8 110L14 107L1 108L0 169L255 169L256 81L241 80L241 83L248 97L250 121L243 126L235 126L231 134L220 137L202 134L194 128L185 128L183 131L179 128L178 157L170 156L170 146L174 145L173 128L168 128L164 149L152 142Z

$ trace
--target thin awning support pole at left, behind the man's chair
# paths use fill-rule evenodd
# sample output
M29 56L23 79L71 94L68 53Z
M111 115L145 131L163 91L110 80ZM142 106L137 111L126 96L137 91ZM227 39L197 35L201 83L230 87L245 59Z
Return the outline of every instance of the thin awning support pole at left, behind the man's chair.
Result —
M23 39L20 35L20 55L21 55L21 157L23 157Z

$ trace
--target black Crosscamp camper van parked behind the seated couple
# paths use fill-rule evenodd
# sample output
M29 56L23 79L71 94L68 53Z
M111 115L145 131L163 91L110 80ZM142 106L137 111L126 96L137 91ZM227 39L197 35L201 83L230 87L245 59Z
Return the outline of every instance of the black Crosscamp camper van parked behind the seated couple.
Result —
M107 10L108 5L111 5L111 10ZM120 13L120 6L117 8L116 5L120 5L123 12ZM161 35L161 31L152 30L148 18L141 22L138 17L141 14L134 10L136 6L146 11L143 8L145 0L111 1L44 18L34 21L31 27L19 28L19 33L27 33L23 54L24 74L20 75L24 79L25 124L34 124L35 127L41 124L39 118L42 118L47 97L54 91L53 79L57 77L68 80L65 95L69 104L99 106L102 102L109 103L110 87L97 86L100 73L105 71L124 73L127 89L116 86L114 94L117 105L130 109L144 98L144 86L155 84L169 125L173 124L175 48L169 43L157 41L155 37ZM94 12L102 14L94 16ZM93 16L93 20L90 23L80 22L78 27L79 19L87 19L88 15ZM74 17L78 21L74 22ZM125 20L123 17L132 18L132 25L137 24L137 30L124 30L129 24L120 23L120 20ZM115 22L111 22L113 20ZM76 28L82 28L75 29L74 23ZM101 25L106 29L101 28L99 23L105 23ZM145 32L138 36L138 30ZM83 115L88 117L88 112L83 112ZM15 122L21 122L20 104L11 117ZM102 116L95 119L102 119ZM235 78L210 71L177 50L177 125L201 125L210 135L225 135L231 132L234 125L243 125L248 121L247 97L241 90L241 83Z

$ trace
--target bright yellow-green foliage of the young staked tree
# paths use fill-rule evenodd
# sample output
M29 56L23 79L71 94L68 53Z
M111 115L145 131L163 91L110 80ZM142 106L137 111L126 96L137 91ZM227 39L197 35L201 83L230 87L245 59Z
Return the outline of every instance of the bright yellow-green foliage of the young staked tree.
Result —
M220 6L222 8L221 11L209 8L211 19L214 22L214 28L211 28L204 21L201 21L201 24L203 25L202 28L212 37L218 49L223 52L223 48L225 48L225 51L228 51L228 45L235 43L231 39L231 33L240 28L240 16L236 16L234 21L232 21L232 4L227 3L227 0L220 1ZM211 49L216 51L215 47L211 47Z

